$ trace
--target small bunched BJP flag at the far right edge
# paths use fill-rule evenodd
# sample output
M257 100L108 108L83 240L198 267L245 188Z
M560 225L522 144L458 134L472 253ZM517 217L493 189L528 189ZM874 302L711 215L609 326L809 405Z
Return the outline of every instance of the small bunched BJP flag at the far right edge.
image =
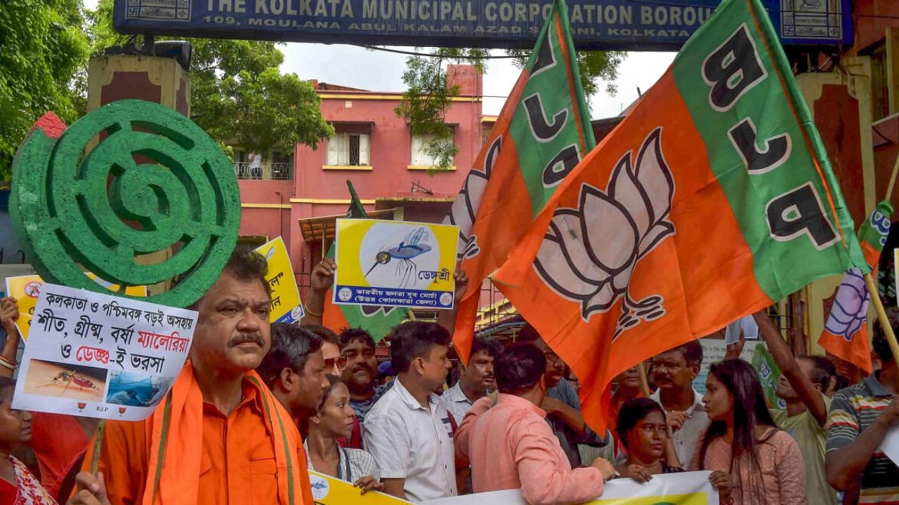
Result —
M877 270L880 252L886 245L886 235L890 234L890 216L893 206L882 201L859 227L861 250L871 271ZM833 300L831 314L824 323L824 331L818 338L818 345L840 359L849 361L871 375L871 346L868 344L868 303L871 295L865 287L865 277L861 270L851 269L843 276L837 295Z

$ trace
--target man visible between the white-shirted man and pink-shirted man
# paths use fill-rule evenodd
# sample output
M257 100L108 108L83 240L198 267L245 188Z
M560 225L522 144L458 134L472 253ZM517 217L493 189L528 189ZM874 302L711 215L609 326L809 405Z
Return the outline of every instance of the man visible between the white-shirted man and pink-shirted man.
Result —
M503 347L493 339L478 337L472 342L468 366L460 364L462 373L458 382L441 396L457 424L473 403L496 389L494 359L501 350Z

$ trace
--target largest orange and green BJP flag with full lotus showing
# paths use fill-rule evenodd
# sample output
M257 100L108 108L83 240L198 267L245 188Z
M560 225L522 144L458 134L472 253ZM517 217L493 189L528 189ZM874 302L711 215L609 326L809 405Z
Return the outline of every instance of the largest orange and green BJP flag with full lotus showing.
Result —
M868 270L768 14L725 0L494 282L601 432L619 372L852 267Z

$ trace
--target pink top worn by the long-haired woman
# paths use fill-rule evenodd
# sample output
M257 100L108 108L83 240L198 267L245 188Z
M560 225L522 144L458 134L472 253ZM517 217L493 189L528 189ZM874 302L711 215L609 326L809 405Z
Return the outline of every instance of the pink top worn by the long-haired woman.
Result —
M743 486L742 494L739 487L734 487L731 491L734 505L806 505L806 466L799 444L786 431L775 430L771 433L769 430L765 437L769 435L770 439L756 446L759 451L761 483L757 474L752 473L752 463L748 458L744 458L739 469L731 469L731 447L721 437L708 444L702 465L694 461L694 467L729 472L734 486ZM699 460L699 449L694 460Z

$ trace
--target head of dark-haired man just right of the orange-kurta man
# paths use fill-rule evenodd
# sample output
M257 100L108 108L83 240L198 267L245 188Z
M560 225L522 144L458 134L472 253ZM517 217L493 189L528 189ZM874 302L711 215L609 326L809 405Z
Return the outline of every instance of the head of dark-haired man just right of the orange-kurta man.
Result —
M274 323L271 349L256 369L271 394L297 420L304 436L307 422L316 415L328 388L322 343L318 335L302 326Z

